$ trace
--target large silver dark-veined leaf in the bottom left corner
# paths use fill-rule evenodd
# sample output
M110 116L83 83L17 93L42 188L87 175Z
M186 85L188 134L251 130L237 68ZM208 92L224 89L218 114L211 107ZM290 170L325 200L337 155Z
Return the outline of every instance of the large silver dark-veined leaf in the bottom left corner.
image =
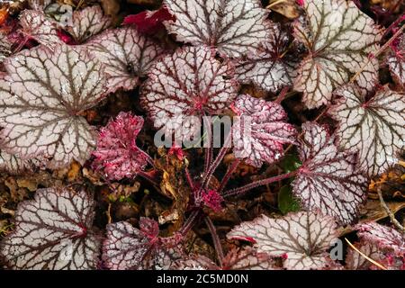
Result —
M22 202L0 254L13 269L86 270L98 265L99 238L91 230L94 201L84 190L39 189Z

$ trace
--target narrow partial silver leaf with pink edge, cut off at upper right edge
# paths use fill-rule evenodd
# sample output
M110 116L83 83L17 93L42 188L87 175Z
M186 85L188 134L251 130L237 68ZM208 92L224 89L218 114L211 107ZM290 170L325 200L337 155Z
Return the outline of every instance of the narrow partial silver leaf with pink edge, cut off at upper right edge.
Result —
M393 46L387 58L388 67L394 80L405 87L405 36L402 35L396 46Z

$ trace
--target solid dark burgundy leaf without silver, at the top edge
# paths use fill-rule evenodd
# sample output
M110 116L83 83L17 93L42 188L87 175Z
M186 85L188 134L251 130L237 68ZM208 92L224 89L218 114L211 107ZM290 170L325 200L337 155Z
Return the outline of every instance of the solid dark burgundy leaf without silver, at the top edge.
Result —
M129 15L124 18L122 24L135 25L139 32L153 35L157 31L165 29L164 21L175 21L175 17L170 14L166 5L154 11L143 11L139 14Z

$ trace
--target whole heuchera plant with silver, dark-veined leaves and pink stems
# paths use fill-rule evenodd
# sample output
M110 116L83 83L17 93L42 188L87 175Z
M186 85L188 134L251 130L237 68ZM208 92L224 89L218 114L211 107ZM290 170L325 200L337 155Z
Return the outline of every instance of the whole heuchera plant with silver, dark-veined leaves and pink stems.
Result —
M4 266L405 269L405 229L380 186L393 226L356 223L404 148L403 16L384 29L356 4L296 1L299 16L274 17L258 0L165 0L121 11L121 27L90 2L7 14L0 169L64 179L16 201ZM161 131L171 148L150 145ZM184 147L195 135L208 145ZM345 261L331 257L355 234Z

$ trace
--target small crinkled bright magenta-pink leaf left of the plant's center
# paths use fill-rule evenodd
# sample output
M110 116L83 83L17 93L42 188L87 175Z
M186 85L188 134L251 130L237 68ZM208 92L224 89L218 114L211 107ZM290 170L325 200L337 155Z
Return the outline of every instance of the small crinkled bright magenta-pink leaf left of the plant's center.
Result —
M147 156L136 145L143 118L130 112L118 116L100 130L93 166L109 180L134 177L147 165Z

